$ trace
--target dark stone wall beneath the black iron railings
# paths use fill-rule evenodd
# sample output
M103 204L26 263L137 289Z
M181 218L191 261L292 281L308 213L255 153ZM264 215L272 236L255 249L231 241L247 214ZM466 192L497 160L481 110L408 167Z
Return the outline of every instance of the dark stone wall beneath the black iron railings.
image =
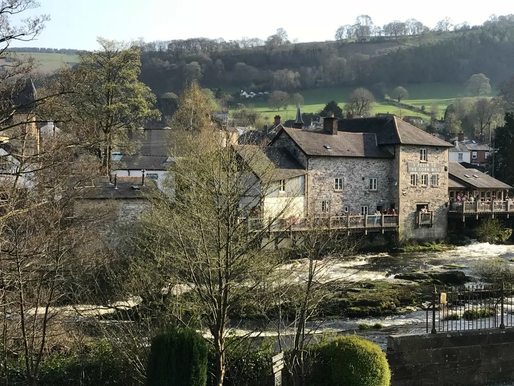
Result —
M392 386L484 386L514 380L514 328L390 336Z

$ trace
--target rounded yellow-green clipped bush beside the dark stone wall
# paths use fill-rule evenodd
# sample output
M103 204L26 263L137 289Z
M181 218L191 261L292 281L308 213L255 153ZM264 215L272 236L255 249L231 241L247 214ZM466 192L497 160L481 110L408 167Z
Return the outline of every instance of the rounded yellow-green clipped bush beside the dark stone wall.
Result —
M320 348L331 386L389 386L391 371L379 346L357 336L338 337Z

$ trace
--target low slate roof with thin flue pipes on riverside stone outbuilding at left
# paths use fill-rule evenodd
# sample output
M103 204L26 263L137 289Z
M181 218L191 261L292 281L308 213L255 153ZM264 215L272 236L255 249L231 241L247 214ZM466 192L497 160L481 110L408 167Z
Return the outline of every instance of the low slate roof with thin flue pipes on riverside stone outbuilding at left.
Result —
M141 185L141 181L141 177L118 177L118 189L115 189L114 184L109 183L108 178L98 178L94 181L80 184L83 188L78 190L77 198L91 200L146 200L157 194L158 189L153 180L145 179L145 186ZM137 189L134 187L137 187Z

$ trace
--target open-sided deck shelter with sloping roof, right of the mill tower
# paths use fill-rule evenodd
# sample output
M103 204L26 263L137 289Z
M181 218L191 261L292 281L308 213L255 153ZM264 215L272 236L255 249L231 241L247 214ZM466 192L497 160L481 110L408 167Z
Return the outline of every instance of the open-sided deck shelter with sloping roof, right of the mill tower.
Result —
M448 190L450 200L456 200L470 196L478 201L504 201L508 196L509 186L487 174L476 170L467 169L458 162L450 162L448 167Z

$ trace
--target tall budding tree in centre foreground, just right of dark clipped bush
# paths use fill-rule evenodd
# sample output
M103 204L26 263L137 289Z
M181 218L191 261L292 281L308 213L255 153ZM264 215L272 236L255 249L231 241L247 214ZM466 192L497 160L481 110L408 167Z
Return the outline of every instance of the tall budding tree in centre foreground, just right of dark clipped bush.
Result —
M197 87L181 95L181 115L198 110L190 97ZM187 131L190 123L180 122L173 129ZM174 314L176 320L195 322L212 336L215 379L222 386L227 350L240 342L229 339L230 314L243 301L270 304L266 283L281 255L264 250L265 235L273 221L296 209L287 200L280 208L264 205L264 196L279 185L261 149L223 146L210 122L192 125L197 134L186 136L176 159L174 200L154 203L144 219L144 238L180 304L177 310L187 311ZM258 213L256 222L248 221Z

